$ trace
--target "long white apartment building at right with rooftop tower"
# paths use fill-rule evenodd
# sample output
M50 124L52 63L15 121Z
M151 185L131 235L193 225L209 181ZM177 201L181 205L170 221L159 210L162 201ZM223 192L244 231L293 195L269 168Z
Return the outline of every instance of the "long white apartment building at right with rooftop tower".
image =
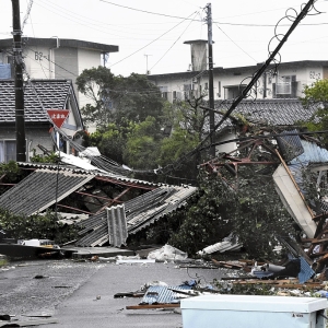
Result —
M207 68L207 42L194 40L190 44L190 70L177 73L153 74L149 79L162 91L169 102L185 101L207 94L209 73ZM233 99L250 82L262 63L235 68L213 68L214 101ZM276 74L272 74L276 72ZM250 98L295 98L302 96L304 85L328 79L328 60L302 60L271 65L249 93Z

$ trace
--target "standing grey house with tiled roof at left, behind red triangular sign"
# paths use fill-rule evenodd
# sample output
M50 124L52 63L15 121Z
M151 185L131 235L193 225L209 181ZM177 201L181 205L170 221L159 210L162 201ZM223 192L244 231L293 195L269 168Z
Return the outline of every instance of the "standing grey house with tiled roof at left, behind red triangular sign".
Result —
M26 160L42 153L38 144L54 150L54 132L47 109L69 109L62 125L67 136L74 136L83 129L83 121L71 80L31 80L24 84L24 117L26 137ZM13 80L0 80L0 162L15 160L15 92ZM62 144L69 152L69 145Z

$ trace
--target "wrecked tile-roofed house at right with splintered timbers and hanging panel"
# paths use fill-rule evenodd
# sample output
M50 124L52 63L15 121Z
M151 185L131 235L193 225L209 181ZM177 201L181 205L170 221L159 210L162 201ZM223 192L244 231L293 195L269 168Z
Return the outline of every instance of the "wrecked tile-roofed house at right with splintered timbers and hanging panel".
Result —
M328 263L328 151L301 125L315 110L304 108L300 99L243 101L219 131L215 159L202 166L222 177L225 174L238 177L238 169L244 165L273 168L277 192L301 232L295 241L298 243L289 246L309 263L317 261L325 267ZM222 116L215 116L220 121ZM315 197L309 197L305 173L311 176Z

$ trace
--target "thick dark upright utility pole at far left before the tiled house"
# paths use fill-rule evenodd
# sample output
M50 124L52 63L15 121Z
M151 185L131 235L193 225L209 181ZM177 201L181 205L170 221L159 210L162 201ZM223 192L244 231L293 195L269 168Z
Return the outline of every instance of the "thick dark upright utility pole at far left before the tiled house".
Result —
M26 162L24 85L22 58L22 31L20 16L20 0L12 0L13 58L15 87L15 128L16 128L16 161Z

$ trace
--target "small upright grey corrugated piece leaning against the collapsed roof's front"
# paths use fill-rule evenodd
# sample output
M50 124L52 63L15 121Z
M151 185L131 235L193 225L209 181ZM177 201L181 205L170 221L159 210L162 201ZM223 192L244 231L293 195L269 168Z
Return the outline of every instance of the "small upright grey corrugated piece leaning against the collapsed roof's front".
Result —
M125 206L116 206L107 209L107 224L109 245L120 247L126 244L128 237Z

